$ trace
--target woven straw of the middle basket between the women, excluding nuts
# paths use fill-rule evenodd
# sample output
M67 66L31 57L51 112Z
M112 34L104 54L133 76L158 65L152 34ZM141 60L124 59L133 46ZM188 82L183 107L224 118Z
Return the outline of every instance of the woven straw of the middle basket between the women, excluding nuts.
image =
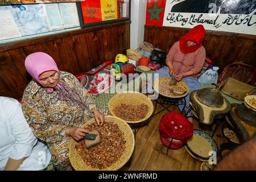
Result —
M123 92L123 93L119 93L116 94L114 97L112 97L109 101L109 111L112 115L114 115L115 117L117 117L117 115L115 115L114 113L114 109L115 107L121 105L121 104L126 104L126 105L141 105L141 104L145 104L148 106L148 112L146 114L146 116L142 119L139 119L138 121L125 121L122 119L123 121L127 122L127 123L139 123L139 122L143 122L146 119L148 119L151 114L154 111L154 106L152 104L152 101L150 99L148 99L147 96L145 96L142 93L139 92ZM119 117L118 117L119 118Z

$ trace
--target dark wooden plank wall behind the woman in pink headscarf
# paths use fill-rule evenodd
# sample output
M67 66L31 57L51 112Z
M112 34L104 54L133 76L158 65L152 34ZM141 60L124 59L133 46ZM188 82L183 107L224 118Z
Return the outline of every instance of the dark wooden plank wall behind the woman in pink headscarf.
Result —
M31 77L24 60L46 52L61 71L87 72L130 48L130 21L0 45L0 96L20 98Z

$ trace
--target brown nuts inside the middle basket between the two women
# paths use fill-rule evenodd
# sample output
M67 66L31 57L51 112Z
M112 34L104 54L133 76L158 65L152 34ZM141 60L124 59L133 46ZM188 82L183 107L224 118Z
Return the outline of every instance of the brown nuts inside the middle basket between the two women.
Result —
M121 104L114 108L114 113L117 117L122 118L125 121L138 121L146 117L148 113L148 106L146 104Z

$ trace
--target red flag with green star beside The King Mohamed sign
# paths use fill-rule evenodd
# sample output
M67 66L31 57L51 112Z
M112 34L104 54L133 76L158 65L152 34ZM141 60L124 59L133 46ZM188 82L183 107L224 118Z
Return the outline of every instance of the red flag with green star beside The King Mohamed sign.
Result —
M163 26L166 0L147 0L146 24Z

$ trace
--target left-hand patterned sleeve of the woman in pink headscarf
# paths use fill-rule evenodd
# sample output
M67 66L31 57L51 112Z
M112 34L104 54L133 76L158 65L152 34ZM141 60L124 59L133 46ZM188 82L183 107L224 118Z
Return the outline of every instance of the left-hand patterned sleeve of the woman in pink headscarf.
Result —
M22 98L22 111L28 125L40 140L55 143L66 137L66 126L49 122L46 108L40 97L32 98L26 90Z

